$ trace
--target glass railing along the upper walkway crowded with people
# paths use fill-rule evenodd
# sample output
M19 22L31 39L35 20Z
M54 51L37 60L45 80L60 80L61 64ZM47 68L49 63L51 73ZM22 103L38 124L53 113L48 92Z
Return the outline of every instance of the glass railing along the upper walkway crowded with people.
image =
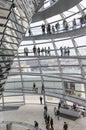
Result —
M59 24L59 28L58 30L55 28L55 23L50 23L51 25L51 34L56 34L56 33L63 33L63 32L67 32L67 31L71 31L71 30L75 30L75 29L79 29L81 27L86 26L86 20L84 21L83 24L80 23L80 18L76 19L76 25L73 25L73 21L67 22L68 28L64 28L63 24ZM52 25L54 26L54 30L55 32L52 31ZM42 35L42 29L41 29L41 25L39 26L35 26L35 27L31 27L31 34L29 33L29 36L36 36L36 35ZM45 25L45 34L47 34L47 27Z

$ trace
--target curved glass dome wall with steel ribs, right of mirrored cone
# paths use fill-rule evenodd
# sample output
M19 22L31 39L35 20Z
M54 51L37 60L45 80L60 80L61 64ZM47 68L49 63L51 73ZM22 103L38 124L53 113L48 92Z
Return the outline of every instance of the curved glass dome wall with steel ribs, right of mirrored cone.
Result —
M83 3L86 3L85 0L62 14L47 18L45 21L42 20L30 24L30 28L27 29L25 34L25 37L28 37L28 41L22 41L19 49L16 50L16 55L4 86L4 98L2 98L4 105L10 103L24 104L26 95L33 94L58 98L72 97L69 100L75 100L75 102L78 99L85 101L85 34L82 36L82 33L80 33L76 37L65 36L54 39L49 37L47 40L40 39L40 35L42 36L42 24L47 25L49 23L51 26L55 26L59 22L60 29L55 33L60 33L60 35L65 32L69 33L69 31L73 33L77 29L85 28L86 23L82 24L82 26L80 23L80 18L83 15L85 16L86 12L85 4ZM76 28L73 28L72 25L74 18L76 19ZM64 19L68 22L68 30L63 29ZM31 29L31 35L28 33L29 29ZM57 30L55 29L55 31ZM54 33L52 34L54 35ZM35 35L37 35L38 40L31 40L30 38ZM48 37L47 32L45 35ZM33 52L34 46L37 49L36 53ZM39 51L38 48L40 48ZM33 90L33 83L36 84L35 90ZM43 88L44 93L42 91Z

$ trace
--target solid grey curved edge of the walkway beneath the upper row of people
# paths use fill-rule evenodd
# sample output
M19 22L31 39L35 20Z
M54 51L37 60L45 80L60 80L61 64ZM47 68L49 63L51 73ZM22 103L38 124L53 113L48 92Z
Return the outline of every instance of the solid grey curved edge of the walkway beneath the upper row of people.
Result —
M86 34L86 26L79 27L77 29L73 30L67 30L63 32L57 32L55 34L40 34L40 35L34 35L34 36L25 36L23 38L24 41L29 40L47 40L47 39L57 39L57 38L65 38L65 37L80 37L85 36Z

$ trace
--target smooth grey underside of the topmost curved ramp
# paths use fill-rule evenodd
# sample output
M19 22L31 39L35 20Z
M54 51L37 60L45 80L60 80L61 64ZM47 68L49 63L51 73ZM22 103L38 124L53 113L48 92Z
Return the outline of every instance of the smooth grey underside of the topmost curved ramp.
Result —
M52 17L54 15L60 14L76 4L80 3L81 0L58 0L50 6L49 8L46 8L43 11L37 12L36 14L33 15L32 17L32 22L37 22L41 20L45 20L49 17Z

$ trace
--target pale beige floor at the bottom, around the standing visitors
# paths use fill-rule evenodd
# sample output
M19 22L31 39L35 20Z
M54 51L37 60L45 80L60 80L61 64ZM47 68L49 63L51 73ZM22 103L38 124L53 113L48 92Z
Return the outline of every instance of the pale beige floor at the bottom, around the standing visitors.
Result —
M48 104L48 114L54 120L54 130L62 130L64 121L68 124L68 130L86 130L86 117L81 117L77 120L71 120L67 118L60 117L60 120L55 117L53 109L55 105ZM21 106L17 110L12 111L1 111L0 112L0 122L2 121L17 121L26 122L34 125L34 121L38 121L39 127L42 130L46 130L45 122L43 118L44 105L41 104L27 104ZM18 127L18 128L17 128ZM27 127L12 127L12 130L27 130ZM0 130L6 130L5 125L0 125Z

